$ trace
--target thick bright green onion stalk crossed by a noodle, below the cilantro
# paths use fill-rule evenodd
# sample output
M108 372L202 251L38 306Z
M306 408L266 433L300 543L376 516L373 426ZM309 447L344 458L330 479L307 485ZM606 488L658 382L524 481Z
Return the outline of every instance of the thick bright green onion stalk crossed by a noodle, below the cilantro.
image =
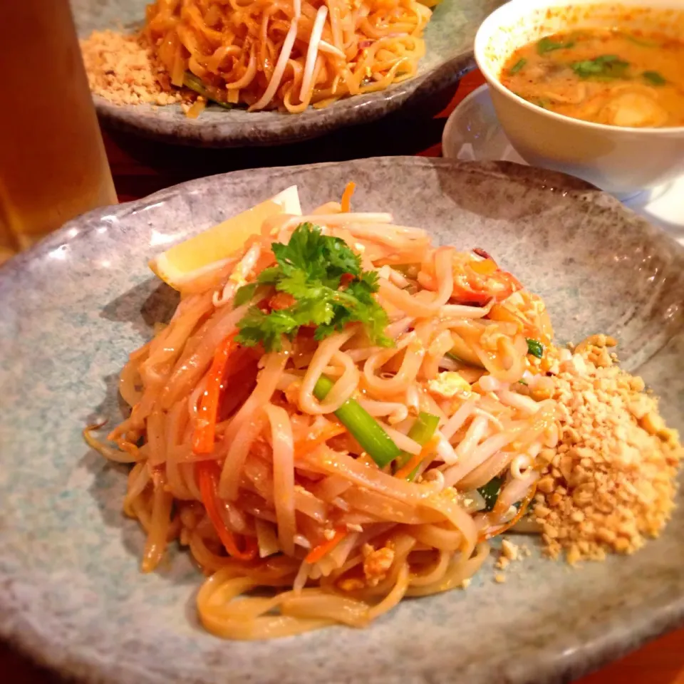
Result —
M323 400L333 388L333 381L321 375L314 386L314 395L318 401ZM358 401L346 400L335 415L340 419L364 451L380 466L391 463L401 456L401 450L391 437L378 424L378 421L364 409Z

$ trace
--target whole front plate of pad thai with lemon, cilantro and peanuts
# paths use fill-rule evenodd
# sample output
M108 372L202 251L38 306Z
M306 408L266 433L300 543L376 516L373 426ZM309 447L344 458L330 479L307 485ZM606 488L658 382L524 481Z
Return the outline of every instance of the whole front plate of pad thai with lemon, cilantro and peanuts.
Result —
M484 682L678 623L680 248L517 165L254 173L90 214L2 274L9 296L59 283L0 328L6 395L36 395L0 423L4 635L90 680ZM57 320L83 343L46 365Z

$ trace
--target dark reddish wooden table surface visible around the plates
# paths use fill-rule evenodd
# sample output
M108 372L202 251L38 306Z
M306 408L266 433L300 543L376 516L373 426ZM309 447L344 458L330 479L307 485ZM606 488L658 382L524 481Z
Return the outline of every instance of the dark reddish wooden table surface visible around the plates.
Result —
M348 128L327 138L283 147L198 150L172 147L106 131L105 147L120 202L202 176L244 168L285 166L383 155L439 157L442 128L450 111L483 83L480 73L465 76L454 92L420 102L379 122ZM8 684L58 684L0 643L0 680ZM122 683L128 684L128 683ZM497 684L497 683L492 683ZM589 675L578 684L684 684L684 629L661 637Z

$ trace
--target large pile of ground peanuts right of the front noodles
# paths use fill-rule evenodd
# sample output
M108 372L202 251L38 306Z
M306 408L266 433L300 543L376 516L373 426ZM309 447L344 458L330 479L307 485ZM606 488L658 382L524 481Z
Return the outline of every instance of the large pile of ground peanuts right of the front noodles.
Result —
M546 553L565 551L571 564L636 551L660 534L674 507L678 434L665 427L643 380L617 366L614 344L588 338L547 371L561 439L539 455L532 519Z

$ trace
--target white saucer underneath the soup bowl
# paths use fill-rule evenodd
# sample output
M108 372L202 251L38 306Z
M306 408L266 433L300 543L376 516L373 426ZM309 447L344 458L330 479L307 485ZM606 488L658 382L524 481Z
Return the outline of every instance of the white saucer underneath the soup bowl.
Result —
M473 90L453 110L442 134L442 150L449 159L506 160L527 165L502 130L486 84ZM621 199L626 207L684 244L684 176Z

